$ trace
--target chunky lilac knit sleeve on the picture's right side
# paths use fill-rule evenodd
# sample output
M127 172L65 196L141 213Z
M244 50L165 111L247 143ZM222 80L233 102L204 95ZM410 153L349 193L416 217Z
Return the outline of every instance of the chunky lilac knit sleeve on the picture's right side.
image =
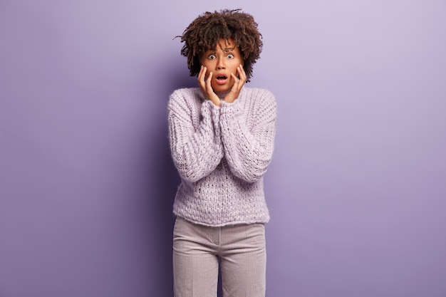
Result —
M220 116L224 154L229 167L235 176L247 182L256 182L266 172L276 133L274 95L266 90L256 95L261 98L244 106L253 110L242 110L238 100L234 103L223 102ZM251 123L249 127L246 123L248 120Z

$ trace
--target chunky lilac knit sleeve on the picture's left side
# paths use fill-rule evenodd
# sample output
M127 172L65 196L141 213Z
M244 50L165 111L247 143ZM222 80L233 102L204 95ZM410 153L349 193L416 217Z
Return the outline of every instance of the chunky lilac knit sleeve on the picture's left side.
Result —
M180 176L189 181L206 177L224 155L219 128L220 108L209 100L193 102L193 94L170 95L168 124L172 159ZM197 110L199 108L199 110ZM201 111L201 116L197 115Z

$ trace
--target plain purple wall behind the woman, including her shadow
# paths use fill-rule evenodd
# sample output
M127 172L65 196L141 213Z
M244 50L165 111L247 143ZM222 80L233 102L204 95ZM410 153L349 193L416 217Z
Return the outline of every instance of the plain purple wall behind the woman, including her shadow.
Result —
M446 296L446 1L2 0L0 297L172 296L173 38L239 7L279 105L267 296Z

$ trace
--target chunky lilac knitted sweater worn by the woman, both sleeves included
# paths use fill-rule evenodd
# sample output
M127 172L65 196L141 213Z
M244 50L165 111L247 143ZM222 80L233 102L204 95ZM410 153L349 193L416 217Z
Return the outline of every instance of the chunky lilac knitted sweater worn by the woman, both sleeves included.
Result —
M168 122L181 177L174 214L207 226L269 221L263 176L276 132L276 100L269 90L243 87L237 100L222 100L220 107L199 88L175 90Z

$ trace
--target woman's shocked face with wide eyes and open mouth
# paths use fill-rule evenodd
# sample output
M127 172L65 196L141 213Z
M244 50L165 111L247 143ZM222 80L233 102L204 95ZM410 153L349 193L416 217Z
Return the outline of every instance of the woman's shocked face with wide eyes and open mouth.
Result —
M225 43L223 38L214 49L204 53L200 62L207 68L206 78L212 73L211 86L214 92L225 92L232 88L234 78L231 73L237 77L237 67L243 64L239 47L235 46L232 39Z

